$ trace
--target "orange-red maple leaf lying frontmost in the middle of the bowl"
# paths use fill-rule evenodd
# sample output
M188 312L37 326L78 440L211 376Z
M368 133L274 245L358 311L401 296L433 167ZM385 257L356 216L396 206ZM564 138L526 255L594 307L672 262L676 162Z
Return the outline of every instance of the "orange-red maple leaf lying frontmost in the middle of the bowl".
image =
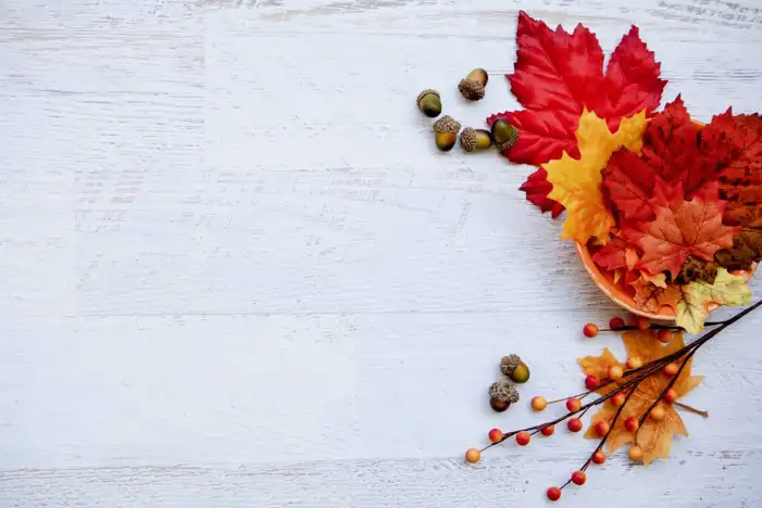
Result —
M670 271L674 279L688 256L712 261L720 249L733 245L735 230L722 224L725 202L717 198L716 183L690 201L684 193L682 182L670 187L657 180L651 200L655 218L624 225L624 238L642 250L637 269L651 275Z

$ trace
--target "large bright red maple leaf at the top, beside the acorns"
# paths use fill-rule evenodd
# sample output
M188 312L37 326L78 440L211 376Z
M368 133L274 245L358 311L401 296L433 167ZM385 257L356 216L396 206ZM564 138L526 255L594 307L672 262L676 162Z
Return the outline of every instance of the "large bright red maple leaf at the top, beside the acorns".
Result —
M572 34L560 26L552 30L521 11L516 45L514 73L507 77L524 111L487 118L489 125L504 118L520 129L519 141L503 153L512 162L540 165L564 151L578 156L574 132L586 107L615 130L622 117L641 110L651 113L661 102L666 81L659 79L660 64L635 26L612 53L605 75L598 39L582 24ZM538 198L542 186L537 174L533 176L523 190L544 211L553 209Z

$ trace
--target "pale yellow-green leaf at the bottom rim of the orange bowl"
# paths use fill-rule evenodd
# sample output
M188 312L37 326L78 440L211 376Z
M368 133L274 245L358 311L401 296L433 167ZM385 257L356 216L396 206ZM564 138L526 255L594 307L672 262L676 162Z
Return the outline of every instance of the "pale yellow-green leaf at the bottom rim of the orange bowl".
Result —
M746 277L735 276L725 268L720 268L713 284L697 280L680 287L675 321L688 333L700 332L709 317L710 303L730 307L751 303L751 291L746 282Z

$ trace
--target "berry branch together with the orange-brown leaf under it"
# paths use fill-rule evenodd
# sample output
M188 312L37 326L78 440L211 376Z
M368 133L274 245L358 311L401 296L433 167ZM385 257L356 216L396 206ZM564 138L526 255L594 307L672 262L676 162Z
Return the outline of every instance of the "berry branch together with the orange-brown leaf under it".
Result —
M703 379L690 374L694 355L720 332L760 306L762 301L730 319L711 323L713 330L687 345L677 328L649 325L640 319L635 325L626 326L620 318L612 319L610 330L623 332L628 355L624 364L608 348L600 356L579 358L578 363L587 374L585 392L551 402L541 396L532 399L535 411L565 402L566 414L526 429L510 432L492 429L488 433L491 443L482 449L470 448L465 453L465 460L475 463L484 452L510 439L514 439L520 446L526 446L538 433L549 437L554 433L555 426L564 421L571 432L579 432L584 428L582 417L591 409L598 411L592 416L585 437L599 440L598 445L564 484L547 490L550 500L560 499L561 492L571 483L584 485L589 466L605 462L604 447L612 454L619 447L629 444L630 460L646 465L657 458L669 457L672 436L687 435L676 408L708 416L705 411L678 402L679 397ZM590 333L590 329L591 323L586 325L584 333L587 336L595 336L599 331L596 327L596 332Z

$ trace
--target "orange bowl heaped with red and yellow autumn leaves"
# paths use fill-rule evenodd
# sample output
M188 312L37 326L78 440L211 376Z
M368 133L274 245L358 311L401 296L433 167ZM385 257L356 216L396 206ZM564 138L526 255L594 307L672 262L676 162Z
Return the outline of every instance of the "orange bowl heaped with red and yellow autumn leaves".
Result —
M644 314L691 333L712 308L744 306L762 259L762 117L732 109L708 125L666 81L633 27L611 54L583 25L552 30L521 12L508 75L523 110L491 115L517 127L502 150L539 166L521 187L542 212L565 211L561 238Z

